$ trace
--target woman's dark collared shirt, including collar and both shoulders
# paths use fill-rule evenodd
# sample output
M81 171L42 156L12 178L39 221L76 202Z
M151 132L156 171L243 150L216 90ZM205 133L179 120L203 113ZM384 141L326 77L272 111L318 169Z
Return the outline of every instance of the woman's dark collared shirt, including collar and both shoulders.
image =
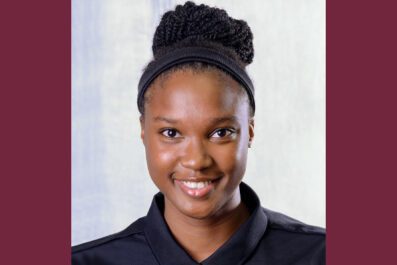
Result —
M232 237L201 263L175 241L163 217L164 197L155 195L149 213L124 231L72 248L73 265L314 265L325 264L325 230L260 206L242 183L251 215Z

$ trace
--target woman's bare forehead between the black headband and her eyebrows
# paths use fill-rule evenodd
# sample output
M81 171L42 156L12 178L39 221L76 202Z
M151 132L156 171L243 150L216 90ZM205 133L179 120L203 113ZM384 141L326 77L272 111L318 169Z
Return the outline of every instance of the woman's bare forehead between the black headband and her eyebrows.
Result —
M158 79L148 91L146 114L195 117L248 111L248 98L234 79L218 71L178 70Z

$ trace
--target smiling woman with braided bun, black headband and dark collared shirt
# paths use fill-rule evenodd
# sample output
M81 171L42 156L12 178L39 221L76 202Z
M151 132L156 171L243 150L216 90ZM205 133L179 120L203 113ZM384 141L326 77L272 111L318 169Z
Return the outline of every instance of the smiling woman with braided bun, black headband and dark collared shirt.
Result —
M72 250L73 264L325 264L325 233L260 206L242 183L254 137L252 33L221 9L165 13L138 88L158 193L146 217Z

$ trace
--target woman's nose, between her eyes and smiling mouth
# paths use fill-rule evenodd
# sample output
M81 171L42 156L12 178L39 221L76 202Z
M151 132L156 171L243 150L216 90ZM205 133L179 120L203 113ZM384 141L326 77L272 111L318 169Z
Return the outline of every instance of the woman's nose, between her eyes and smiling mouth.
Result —
M198 139L191 139L186 143L181 157L181 165L183 167L194 171L200 171L210 167L212 163L213 159L205 143Z

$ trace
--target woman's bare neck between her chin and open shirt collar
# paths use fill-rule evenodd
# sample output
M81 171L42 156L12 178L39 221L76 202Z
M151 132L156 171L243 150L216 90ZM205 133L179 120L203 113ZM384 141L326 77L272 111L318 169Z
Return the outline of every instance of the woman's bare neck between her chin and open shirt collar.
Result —
M189 217L165 201L164 217L173 236L197 262L211 256L248 219L249 211L238 190L231 201L231 206L205 218Z

